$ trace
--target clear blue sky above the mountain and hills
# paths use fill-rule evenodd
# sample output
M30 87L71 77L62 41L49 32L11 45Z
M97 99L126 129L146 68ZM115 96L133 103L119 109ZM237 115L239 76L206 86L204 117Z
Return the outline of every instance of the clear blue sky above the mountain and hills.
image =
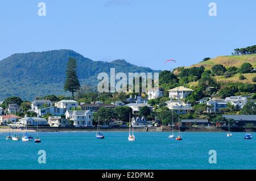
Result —
M38 3L46 16L38 16ZM217 16L209 16L216 2ZM0 60L73 49L98 61L125 59L170 70L256 44L256 1L23 0L0 2ZM164 64L173 58L177 63Z

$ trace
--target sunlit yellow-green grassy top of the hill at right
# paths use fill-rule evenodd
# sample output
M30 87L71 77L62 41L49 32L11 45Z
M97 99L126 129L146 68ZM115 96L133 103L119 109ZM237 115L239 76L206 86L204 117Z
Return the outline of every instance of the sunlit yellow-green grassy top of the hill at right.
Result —
M253 67L256 67L256 54L246 54L241 56L218 56L208 61L194 64L191 67L199 67L203 65L205 69L210 69L213 65L221 64L226 68L229 68L230 66L235 66L238 68L245 62L249 62L251 65L253 65Z

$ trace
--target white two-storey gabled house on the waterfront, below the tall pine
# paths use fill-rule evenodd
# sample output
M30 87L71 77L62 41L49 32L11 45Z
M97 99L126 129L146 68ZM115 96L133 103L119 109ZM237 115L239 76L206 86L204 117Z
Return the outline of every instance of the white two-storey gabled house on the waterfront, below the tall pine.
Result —
M89 110L66 111L66 119L74 121L75 127L91 127L93 124L93 113Z

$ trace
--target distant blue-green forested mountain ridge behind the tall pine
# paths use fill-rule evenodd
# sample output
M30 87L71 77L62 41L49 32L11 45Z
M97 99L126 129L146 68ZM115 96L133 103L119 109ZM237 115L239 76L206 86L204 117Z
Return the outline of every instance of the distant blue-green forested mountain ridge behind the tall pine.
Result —
M0 100L8 96L20 96L32 100L36 96L48 94L64 95L65 70L69 57L77 61L77 75L81 85L96 86L97 75L115 72L159 72L126 62L93 61L81 54L67 49L46 52L15 53L0 61Z

